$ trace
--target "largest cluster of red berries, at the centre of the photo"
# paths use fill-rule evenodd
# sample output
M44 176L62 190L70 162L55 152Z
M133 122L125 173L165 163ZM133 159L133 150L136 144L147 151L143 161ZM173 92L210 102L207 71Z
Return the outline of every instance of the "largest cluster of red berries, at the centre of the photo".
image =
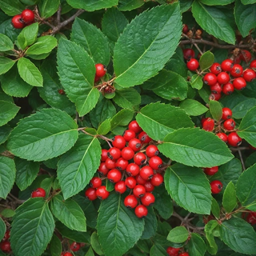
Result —
M163 176L159 173L162 159L158 156L157 146L135 120L129 123L122 136L113 137L112 145L108 150L101 150L101 162L97 172L102 177L93 177L90 180L91 187L85 191L85 196L89 200L97 197L106 199L109 192L102 185L102 179L107 177L110 182L115 183L115 192L122 194L130 189L124 205L135 208L137 217L145 217L146 206L152 205L155 200L151 193L154 186L163 183ZM137 205L138 201L141 204Z

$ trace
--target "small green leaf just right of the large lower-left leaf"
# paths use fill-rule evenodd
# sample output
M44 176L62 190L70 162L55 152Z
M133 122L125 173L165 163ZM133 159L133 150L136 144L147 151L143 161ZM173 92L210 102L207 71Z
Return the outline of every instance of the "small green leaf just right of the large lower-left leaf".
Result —
M70 229L86 231L84 213L74 200L63 200L63 197L57 194L51 200L50 209L54 216Z

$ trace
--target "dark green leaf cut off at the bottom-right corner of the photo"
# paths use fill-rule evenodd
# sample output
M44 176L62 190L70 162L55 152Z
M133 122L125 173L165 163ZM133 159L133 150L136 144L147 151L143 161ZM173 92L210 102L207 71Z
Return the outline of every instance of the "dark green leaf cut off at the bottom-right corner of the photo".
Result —
M246 254L256 253L256 233L243 219L233 217L224 220L219 233L220 239L232 250Z

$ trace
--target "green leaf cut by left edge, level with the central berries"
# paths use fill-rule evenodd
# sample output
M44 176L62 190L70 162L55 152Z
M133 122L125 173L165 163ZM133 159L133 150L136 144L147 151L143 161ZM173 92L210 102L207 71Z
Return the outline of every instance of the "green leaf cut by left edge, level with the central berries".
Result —
M6 198L13 186L15 178L15 163L11 158L0 156L0 197Z

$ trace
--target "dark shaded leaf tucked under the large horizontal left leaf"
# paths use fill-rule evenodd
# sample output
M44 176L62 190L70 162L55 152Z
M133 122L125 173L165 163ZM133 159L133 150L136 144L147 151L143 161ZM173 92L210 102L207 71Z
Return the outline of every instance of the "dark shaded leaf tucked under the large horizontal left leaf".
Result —
M27 161L18 157L14 158L16 165L15 182L20 190L24 190L32 184L39 172L40 163Z

